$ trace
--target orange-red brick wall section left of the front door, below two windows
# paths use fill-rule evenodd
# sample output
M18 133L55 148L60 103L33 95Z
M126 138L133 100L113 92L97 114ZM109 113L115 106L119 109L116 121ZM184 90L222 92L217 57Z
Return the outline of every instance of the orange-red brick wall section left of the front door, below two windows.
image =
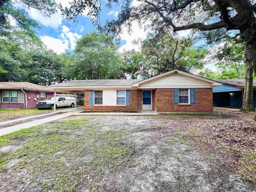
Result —
M140 101L141 90L139 90L139 99L137 99L137 90L130 90L130 105L129 106L103 106L103 105L90 105L90 90L84 90L84 110L93 111L137 111L142 107Z

